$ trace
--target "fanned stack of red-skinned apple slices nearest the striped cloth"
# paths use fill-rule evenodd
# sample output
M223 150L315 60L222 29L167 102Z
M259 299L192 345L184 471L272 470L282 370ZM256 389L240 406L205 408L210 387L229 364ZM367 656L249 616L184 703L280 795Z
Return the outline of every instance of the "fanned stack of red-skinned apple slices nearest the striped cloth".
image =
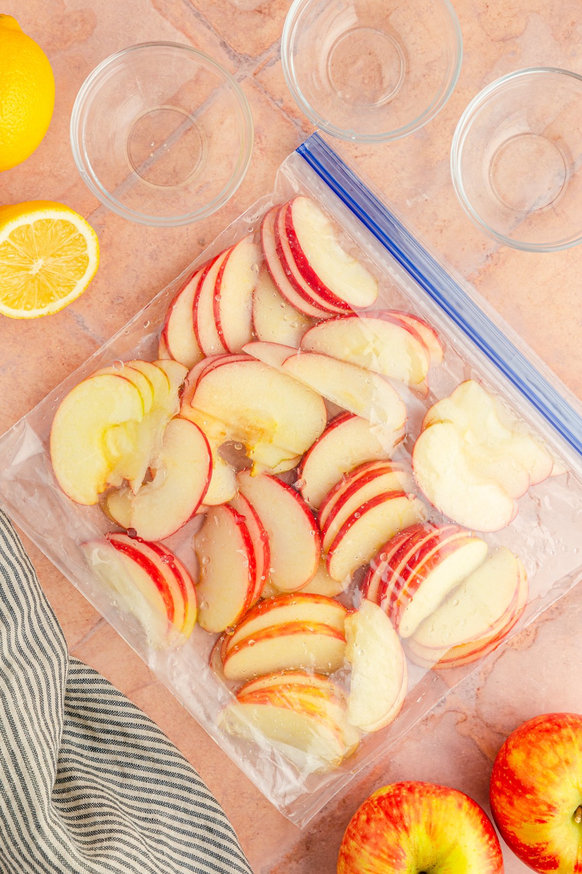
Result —
M82 550L96 577L146 629L152 646L179 644L192 634L195 584L167 546L115 532L84 544Z

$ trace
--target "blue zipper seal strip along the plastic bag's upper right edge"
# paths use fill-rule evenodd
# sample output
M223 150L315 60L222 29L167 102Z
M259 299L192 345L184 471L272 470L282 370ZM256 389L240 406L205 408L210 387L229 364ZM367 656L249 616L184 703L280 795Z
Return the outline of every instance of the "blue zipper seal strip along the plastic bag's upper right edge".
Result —
M318 133L297 149L394 260L582 456L582 417Z

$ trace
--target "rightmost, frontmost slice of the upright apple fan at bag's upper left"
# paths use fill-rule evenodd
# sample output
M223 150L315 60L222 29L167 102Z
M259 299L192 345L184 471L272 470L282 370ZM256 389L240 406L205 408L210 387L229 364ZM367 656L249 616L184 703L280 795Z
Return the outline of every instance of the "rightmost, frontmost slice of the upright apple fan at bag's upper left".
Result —
M214 318L221 343L238 352L252 336L252 296L257 284L261 250L252 237L229 249L216 275Z

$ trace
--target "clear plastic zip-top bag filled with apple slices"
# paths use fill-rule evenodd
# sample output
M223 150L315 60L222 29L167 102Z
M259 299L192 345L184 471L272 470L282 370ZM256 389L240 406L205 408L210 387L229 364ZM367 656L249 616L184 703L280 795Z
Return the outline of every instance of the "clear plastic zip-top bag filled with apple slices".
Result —
M580 406L313 135L0 439L3 507L292 822L579 580Z

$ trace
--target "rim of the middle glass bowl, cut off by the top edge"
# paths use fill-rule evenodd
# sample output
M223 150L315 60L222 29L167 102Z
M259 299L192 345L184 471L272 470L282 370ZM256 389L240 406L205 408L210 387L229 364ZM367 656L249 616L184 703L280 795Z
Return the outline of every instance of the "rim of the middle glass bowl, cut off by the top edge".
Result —
M338 128L336 125L332 124L330 119L325 119L322 115L318 114L318 111L305 99L301 89L298 87L292 61L291 46L293 45L295 29L298 24L298 16L303 10L305 10L305 7L312 2L313 0L293 0L293 3L291 3L291 7L285 17L283 33L281 36L281 65L283 66L285 83L291 92L293 100L297 103L298 108L305 113L307 118L312 121L317 128L320 128L326 134L331 134L332 136L336 136L338 139L346 140L347 142L393 142L394 140L400 140L402 137L409 134L414 134L415 131L420 130L425 126L425 124L428 124L428 121L432 121L435 118L435 115L441 111L448 102L451 94L453 94L462 66L463 49L461 24L456 14L455 7L450 0L434 0L434 2L438 3L438 5L447 13L448 21L451 24L451 32L455 39L455 63L450 68L451 73L448 86L437 94L435 100L433 100L427 108L423 109L421 114L417 115L414 121L410 121L401 128L394 128L394 130L388 130L380 134L359 134L357 131L349 133L346 128Z

